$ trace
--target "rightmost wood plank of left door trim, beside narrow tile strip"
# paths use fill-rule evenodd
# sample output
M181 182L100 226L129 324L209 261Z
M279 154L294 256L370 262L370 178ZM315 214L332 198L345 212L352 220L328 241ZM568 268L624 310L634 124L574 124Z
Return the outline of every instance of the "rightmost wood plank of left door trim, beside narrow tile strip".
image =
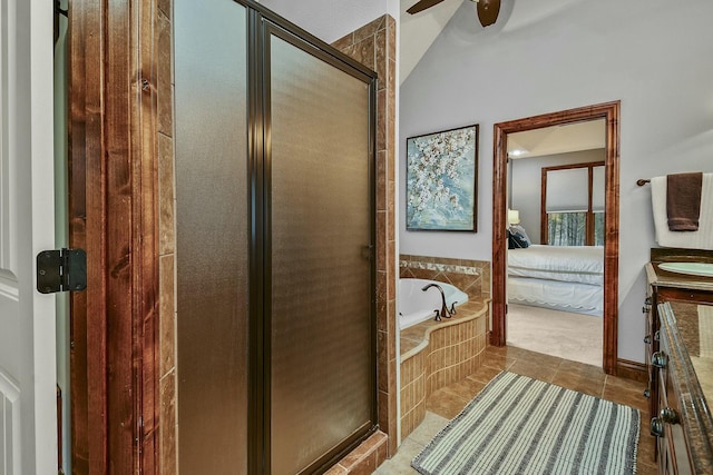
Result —
M134 339L135 353L140 355L136 368L139 397L136 414L140 415L138 427L140 444L138 464L144 474L159 473L158 464L158 410L159 402L159 350L158 350L158 132L157 132L157 22L158 10L154 1L141 1L138 13L137 34L133 63L138 73L133 80L133 97L137 103L133 108L131 140L133 152L140 160L133 160L135 219L134 248L138 268L134 273L134 315L137 337Z

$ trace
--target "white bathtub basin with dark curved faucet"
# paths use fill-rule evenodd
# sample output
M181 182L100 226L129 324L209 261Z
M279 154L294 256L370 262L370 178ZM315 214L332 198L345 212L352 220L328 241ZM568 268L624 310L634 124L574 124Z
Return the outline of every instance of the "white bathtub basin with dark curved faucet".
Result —
M441 309L441 293L437 288L421 290L429 284L438 284L446 295L446 304L450 308L468 301L468 295L458 287L437 280L399 279L399 328L404 329L436 316Z

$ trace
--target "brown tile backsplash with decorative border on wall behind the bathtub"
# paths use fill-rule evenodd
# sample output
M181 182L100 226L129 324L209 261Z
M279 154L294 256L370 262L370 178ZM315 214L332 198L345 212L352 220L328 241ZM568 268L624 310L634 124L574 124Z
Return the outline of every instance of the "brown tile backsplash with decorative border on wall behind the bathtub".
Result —
M487 260L404 254L399 257L400 278L440 280L455 285L470 298L490 298L490 263Z

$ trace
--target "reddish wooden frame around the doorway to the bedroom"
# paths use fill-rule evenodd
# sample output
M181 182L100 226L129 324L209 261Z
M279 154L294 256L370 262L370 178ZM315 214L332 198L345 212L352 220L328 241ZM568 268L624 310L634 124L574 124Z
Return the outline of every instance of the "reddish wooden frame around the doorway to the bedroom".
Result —
M604 245L604 362L607 374L617 370L618 229L619 229L619 109L606 102L494 126L492 169L492 343L506 344L506 214L508 133L585 120L606 120L606 229Z

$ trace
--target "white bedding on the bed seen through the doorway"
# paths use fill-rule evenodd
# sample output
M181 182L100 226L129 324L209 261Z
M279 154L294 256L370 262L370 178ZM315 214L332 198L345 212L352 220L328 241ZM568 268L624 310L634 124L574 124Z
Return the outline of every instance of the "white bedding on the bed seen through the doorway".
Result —
M604 247L544 246L508 249L508 276L604 285Z

